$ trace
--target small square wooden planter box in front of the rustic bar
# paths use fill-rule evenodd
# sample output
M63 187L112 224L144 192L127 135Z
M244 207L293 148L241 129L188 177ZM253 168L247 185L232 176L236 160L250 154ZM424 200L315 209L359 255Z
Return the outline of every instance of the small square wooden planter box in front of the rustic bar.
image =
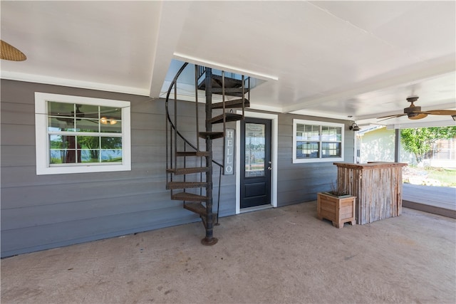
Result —
M356 196L334 196L327 192L316 196L318 219L328 219L333 226L341 229L344 223L356 224Z

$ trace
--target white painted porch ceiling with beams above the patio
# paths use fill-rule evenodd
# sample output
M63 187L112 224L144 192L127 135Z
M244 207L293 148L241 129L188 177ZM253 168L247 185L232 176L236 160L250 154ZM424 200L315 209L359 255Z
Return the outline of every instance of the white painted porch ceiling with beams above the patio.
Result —
M365 125L410 95L422 110L456 108L455 4L1 1L1 39L27 56L1 61L1 78L158 97L179 59L267 80L252 108ZM380 123L409 122L455 123Z

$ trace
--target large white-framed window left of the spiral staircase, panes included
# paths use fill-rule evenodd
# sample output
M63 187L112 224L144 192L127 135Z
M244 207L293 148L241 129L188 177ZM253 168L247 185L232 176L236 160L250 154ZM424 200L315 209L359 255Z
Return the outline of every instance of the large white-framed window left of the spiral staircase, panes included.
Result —
M35 93L36 174L131 169L130 103Z

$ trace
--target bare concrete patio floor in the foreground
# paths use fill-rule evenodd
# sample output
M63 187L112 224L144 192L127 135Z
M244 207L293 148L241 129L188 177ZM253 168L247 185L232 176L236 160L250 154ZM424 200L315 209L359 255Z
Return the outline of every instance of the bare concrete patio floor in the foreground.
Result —
M1 303L456 303L456 220L336 229L316 202L1 260Z

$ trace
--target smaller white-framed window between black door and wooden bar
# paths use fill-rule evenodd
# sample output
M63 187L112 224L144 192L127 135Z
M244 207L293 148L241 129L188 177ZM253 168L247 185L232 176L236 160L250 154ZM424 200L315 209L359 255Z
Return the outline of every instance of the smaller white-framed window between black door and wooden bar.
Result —
M343 124L293 120L293 162L343 160Z

